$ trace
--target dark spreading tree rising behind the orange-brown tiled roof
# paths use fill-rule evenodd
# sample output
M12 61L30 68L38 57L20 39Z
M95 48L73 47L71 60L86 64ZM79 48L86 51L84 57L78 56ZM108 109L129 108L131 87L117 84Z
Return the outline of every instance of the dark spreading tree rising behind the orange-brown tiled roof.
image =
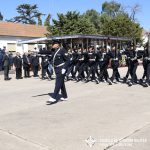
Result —
M24 24L36 24L39 17L41 17L42 13L38 11L37 5L30 4L22 4L16 8L19 16L16 16L10 20L10 22L21 22Z

